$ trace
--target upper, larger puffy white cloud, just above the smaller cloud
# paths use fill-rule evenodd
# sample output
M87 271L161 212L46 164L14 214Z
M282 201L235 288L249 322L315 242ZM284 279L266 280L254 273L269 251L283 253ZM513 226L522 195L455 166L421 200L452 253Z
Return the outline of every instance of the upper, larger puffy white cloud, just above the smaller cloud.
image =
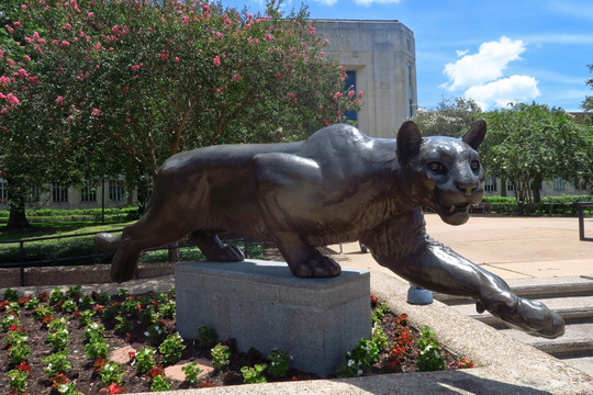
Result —
M505 36L497 42L483 43L477 54L467 55L467 50L458 50L462 57L455 64L445 65L444 72L449 80L441 87L456 91L494 81L503 76L503 70L510 61L521 58L523 52L525 52L523 41L512 41Z

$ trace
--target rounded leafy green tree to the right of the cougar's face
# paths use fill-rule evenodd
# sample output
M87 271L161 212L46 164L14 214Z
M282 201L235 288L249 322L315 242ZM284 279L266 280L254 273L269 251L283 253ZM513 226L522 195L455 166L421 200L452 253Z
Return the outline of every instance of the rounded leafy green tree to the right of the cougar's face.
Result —
M518 103L483 116L489 129L480 147L484 168L512 181L528 210L535 208L544 180L593 181L593 131L563 110Z

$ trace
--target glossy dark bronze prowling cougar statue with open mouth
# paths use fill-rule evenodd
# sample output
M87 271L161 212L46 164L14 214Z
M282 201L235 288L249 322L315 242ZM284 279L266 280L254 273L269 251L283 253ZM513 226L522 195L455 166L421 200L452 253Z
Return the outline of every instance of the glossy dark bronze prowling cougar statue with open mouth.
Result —
M422 138L405 122L398 139L371 138L347 125L300 143L215 146L181 153L160 168L144 216L121 238L97 235L115 252L111 278L132 279L143 249L191 234L209 260L240 261L216 234L276 241L292 273L338 275L315 247L360 240L373 258L428 290L471 296L532 335L558 337L564 323L545 305L516 296L499 276L433 240L422 206L450 225L468 221L481 201L483 170L475 149L479 121L461 138Z

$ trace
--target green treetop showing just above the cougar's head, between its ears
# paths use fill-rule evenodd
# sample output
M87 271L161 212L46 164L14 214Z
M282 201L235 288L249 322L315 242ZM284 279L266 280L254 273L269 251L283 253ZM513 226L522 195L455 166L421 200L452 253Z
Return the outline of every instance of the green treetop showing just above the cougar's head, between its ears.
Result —
M424 136L457 137L478 121L481 113L482 110L472 99L443 99L436 109L419 109L412 120Z

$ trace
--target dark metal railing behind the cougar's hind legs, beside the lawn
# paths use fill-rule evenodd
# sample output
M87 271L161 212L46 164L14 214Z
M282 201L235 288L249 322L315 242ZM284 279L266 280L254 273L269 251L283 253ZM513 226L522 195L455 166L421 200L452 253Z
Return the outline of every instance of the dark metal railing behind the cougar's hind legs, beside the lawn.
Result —
M120 233L123 229L115 229L115 230L103 230L107 233ZM78 263L70 264L70 266L91 266L97 264L97 262L89 263L92 259L100 259L100 258L107 258L113 256L112 253L108 252L97 252L92 255L85 255L85 256L76 256L76 257L59 257L59 258L49 258L49 259L41 259L41 260L25 260L26 253L25 253L25 244L35 242L35 241L45 241L45 240L56 240L56 239L65 239L65 238L78 238L78 237L85 237L85 236L94 236L97 232L91 233L81 233L76 235L65 235L65 236L45 236L45 237L34 237L34 238L26 238L26 239L18 239L18 240L0 240L0 245L8 245L8 244L18 244L19 245L19 260L15 262L3 262L0 263L0 269L3 268L20 268L20 278L21 278L21 286L24 286L24 275L25 275L25 268L36 268L36 267L47 267L47 266L57 266L56 263L60 262L71 262L71 261L79 261ZM223 237L223 241L225 242L243 242L244 244L244 253L245 258L248 258L248 245L250 241L236 237L234 235L227 234L226 237ZM188 247L195 247L195 244L193 242L178 242L177 245L167 245L161 247L154 247L154 248L147 248L144 250L144 252L147 251L157 251L157 250L179 250L181 248L188 248ZM137 272L136 272L137 276Z

